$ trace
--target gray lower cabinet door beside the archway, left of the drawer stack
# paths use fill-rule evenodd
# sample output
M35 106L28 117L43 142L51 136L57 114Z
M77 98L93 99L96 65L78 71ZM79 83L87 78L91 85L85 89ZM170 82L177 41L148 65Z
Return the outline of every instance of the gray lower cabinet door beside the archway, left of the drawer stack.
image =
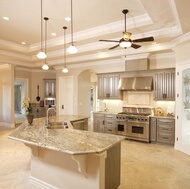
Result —
M104 113L93 113L93 131L104 133Z

